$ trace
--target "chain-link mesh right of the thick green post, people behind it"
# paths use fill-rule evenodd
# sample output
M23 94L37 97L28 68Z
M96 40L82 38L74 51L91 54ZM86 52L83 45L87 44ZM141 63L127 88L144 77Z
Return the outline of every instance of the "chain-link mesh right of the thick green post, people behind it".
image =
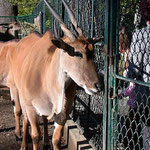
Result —
M139 13L139 0L120 1L117 101L112 105L112 147L150 149L150 30Z

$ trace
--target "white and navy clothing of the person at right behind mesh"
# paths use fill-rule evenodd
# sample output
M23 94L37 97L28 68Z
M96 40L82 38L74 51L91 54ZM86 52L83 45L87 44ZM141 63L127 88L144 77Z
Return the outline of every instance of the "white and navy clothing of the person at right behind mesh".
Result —
M129 67L127 76L143 82L150 82L150 25L136 30L132 37L129 51ZM149 87L136 84L135 101L138 105L150 106Z

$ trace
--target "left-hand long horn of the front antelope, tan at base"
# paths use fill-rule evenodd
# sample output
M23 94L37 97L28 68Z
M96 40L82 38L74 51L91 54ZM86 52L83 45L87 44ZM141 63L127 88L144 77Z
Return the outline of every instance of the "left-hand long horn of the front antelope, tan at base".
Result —
M56 13L56 11L52 8L52 6L47 2L47 0L44 0L45 4L47 5L48 9L52 13L52 15L58 20L60 23L60 27L64 34L69 37L70 40L74 41L76 38L75 36L71 33L71 31L67 28L65 23L63 22L62 18Z

